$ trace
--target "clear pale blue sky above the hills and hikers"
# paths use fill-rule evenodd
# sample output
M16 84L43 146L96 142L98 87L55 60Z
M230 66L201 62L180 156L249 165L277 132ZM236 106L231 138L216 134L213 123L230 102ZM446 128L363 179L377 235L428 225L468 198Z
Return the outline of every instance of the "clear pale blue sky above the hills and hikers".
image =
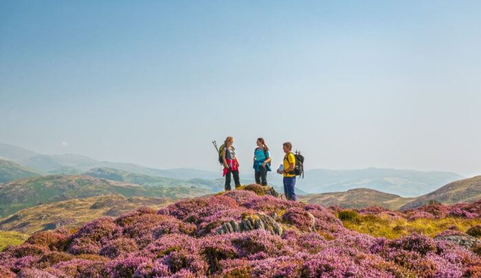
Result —
M219 171L481 174L480 1L0 2L0 142Z

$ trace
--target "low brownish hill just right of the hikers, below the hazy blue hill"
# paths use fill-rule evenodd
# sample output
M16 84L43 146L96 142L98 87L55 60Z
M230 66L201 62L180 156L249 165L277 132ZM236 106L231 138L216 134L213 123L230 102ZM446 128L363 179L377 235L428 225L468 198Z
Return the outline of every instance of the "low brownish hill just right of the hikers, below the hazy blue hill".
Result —
M390 210L396 210L413 199L414 198L405 198L399 195L364 188L350 189L345 192L309 194L299 198L302 202L320 204L322 206L339 205L343 208L382 206Z

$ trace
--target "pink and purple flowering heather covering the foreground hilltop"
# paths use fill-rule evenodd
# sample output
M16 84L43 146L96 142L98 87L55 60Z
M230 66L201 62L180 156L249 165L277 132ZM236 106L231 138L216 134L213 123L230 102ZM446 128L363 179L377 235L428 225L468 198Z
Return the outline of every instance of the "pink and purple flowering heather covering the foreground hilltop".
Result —
M159 211L140 208L100 218L76 232L35 233L0 253L0 277L480 277L476 239L481 202L436 204L405 212L372 207L326 209L234 190L183 200ZM258 192L259 193L259 192ZM343 213L344 211L344 213ZM344 215L343 221L336 215ZM438 235L407 233L406 225L452 219ZM348 222L392 219L396 239L348 229ZM343 224L344 222L344 224ZM374 224L366 228L379 228ZM245 226L244 226L245 225ZM276 227L276 233L271 231ZM470 237L465 233L469 230ZM478 239L476 239L478 240ZM471 250L472 249L472 250ZM476 253L473 253L473 250Z

